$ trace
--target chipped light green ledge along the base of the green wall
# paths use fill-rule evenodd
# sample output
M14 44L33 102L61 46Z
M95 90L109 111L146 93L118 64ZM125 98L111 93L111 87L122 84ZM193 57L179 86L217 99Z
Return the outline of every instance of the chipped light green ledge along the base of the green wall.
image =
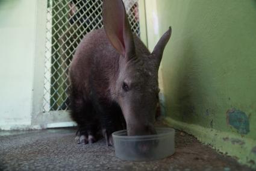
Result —
M240 163L256 169L256 140L241 137L230 132L217 131L199 125L180 122L170 117L165 121L173 128L194 135L199 141L210 145L223 154L236 158Z

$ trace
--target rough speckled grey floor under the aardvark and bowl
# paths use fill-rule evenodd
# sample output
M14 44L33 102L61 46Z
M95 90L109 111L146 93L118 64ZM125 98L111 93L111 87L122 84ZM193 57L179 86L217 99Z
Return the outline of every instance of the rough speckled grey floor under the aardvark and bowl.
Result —
M250 170L180 131L175 154L150 162L121 161L104 140L77 145L75 131L0 131L0 170Z

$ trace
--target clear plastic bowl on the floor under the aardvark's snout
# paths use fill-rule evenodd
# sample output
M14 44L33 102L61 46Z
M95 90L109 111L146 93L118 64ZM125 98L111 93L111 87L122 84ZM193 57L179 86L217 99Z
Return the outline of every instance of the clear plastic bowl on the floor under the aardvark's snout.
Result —
M127 136L127 131L113 132L116 157L129 161L149 161L168 157L175 152L172 128L156 128L155 135Z

